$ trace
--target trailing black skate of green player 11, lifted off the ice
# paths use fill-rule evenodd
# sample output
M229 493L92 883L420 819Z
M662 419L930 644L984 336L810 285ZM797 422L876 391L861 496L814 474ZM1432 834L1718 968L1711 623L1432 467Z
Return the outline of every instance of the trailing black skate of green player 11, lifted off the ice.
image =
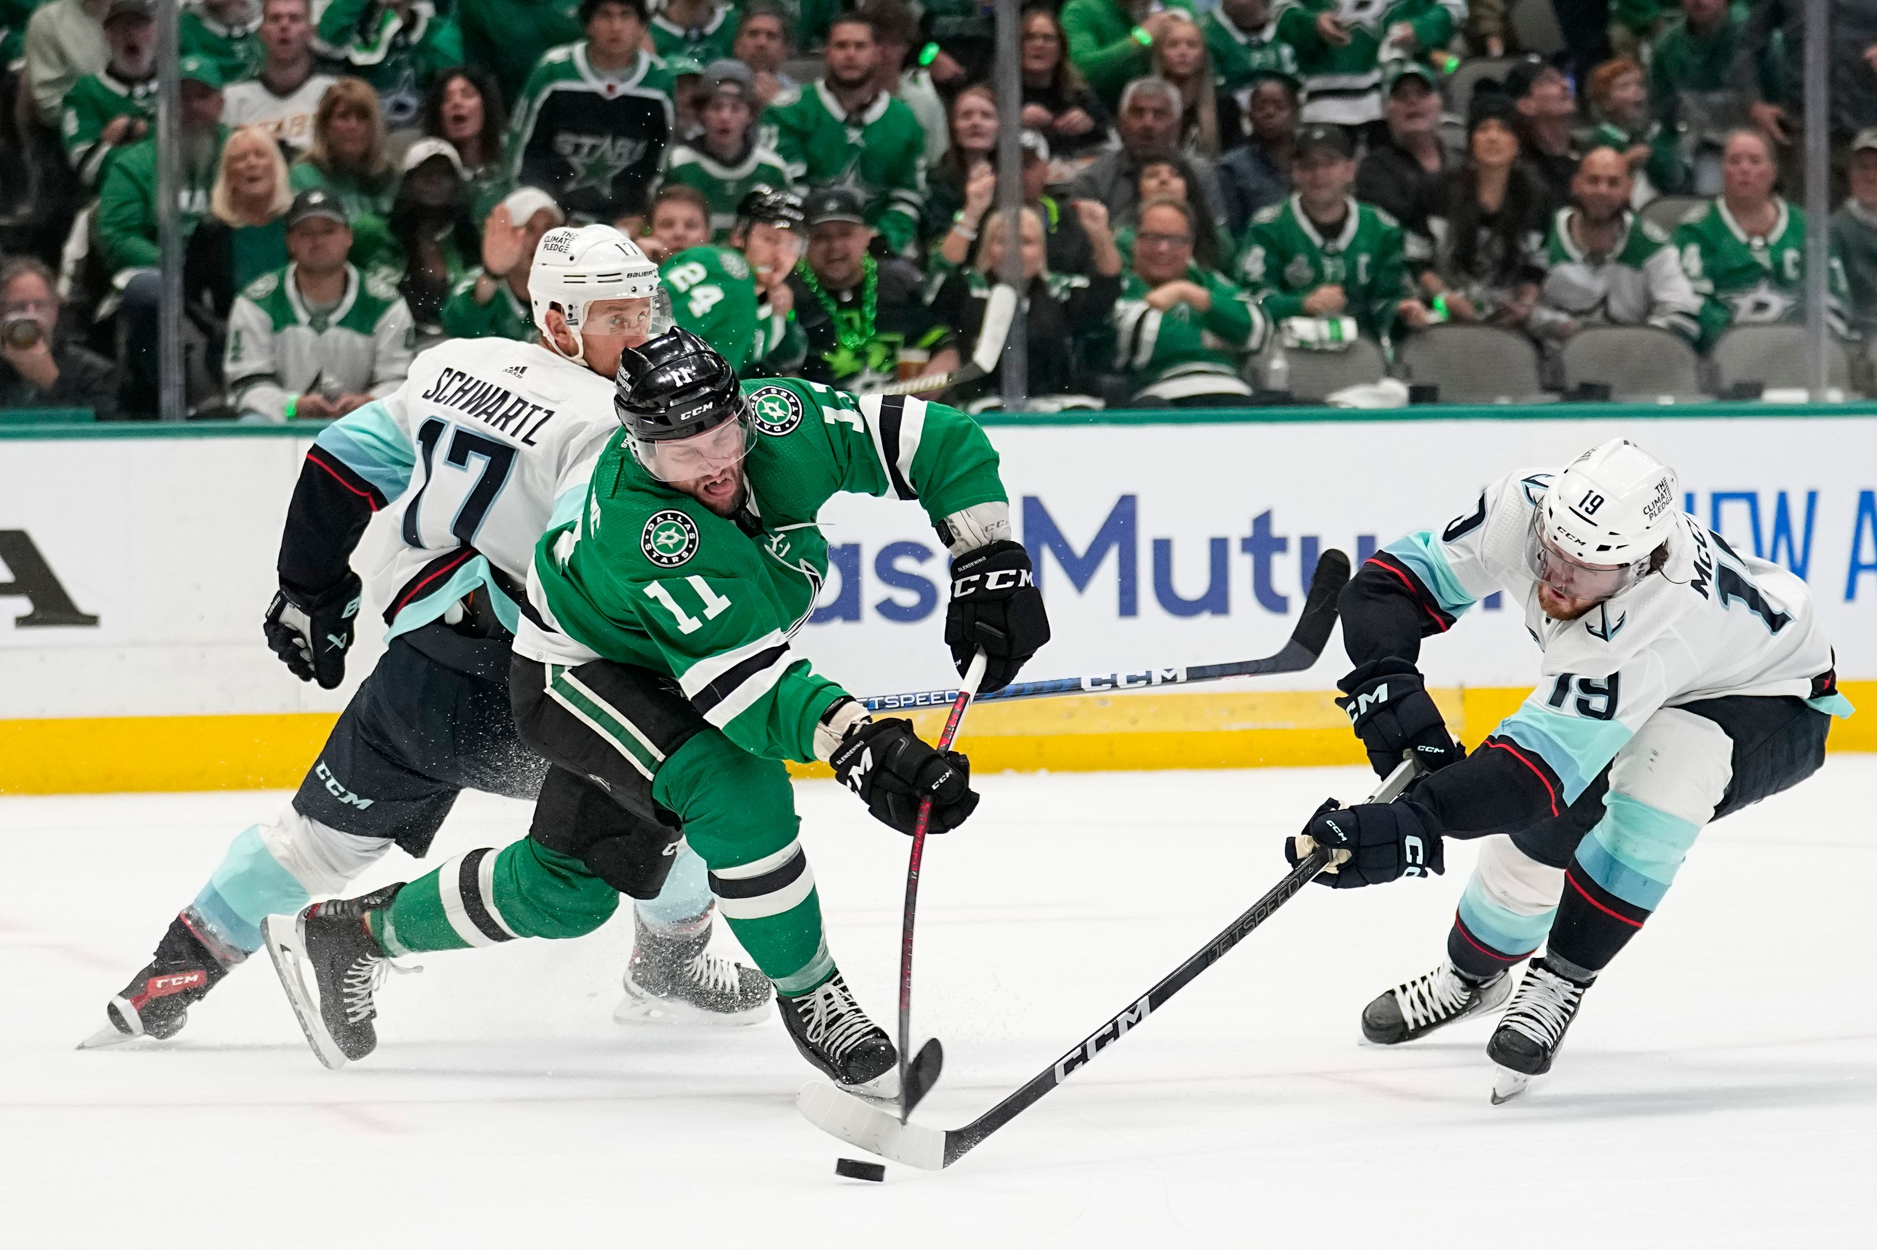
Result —
M300 1032L319 1062L334 1072L377 1049L374 991L385 980L385 968L396 965L364 927L364 914L390 907L400 890L402 880L357 899L328 899L298 916L261 922L267 953L293 1014L300 1017Z

